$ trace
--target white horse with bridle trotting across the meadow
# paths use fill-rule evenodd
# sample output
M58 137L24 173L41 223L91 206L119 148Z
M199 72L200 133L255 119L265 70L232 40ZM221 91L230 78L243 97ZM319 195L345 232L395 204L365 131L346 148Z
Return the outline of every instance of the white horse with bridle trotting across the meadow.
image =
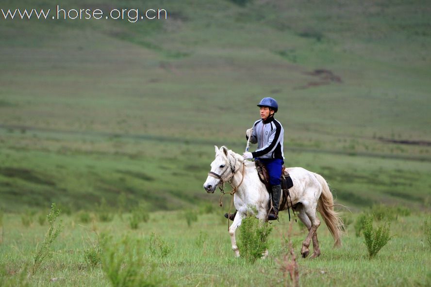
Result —
M241 220L245 218L249 211L249 206L256 207L256 217L266 220L268 213L269 193L265 185L260 181L256 167L251 161L243 159L237 153L228 150L225 146L220 149L216 147L216 159L211 163L211 171L203 184L206 192L214 193L217 186L229 182L235 193L233 203L238 210L229 227L231 236L232 250L235 256L239 256L238 246L236 245L235 230L241 225ZM298 218L307 226L309 232L306 239L302 242L301 255L309 255L310 241L313 240L313 255L315 258L320 255L319 243L317 241L316 230L320 225L317 218L316 209L322 215L329 231L334 239L334 247L341 246L341 231L344 227L343 221L333 209L332 193L325 179L318 174L310 172L301 167L286 168L293 181L293 187L289 189L291 202L287 201L280 210L291 207L292 203Z

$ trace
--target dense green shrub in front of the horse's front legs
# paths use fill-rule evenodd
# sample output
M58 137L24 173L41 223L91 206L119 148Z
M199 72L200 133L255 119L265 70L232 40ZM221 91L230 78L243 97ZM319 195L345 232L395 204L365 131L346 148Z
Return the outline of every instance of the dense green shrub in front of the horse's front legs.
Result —
M254 263L268 249L267 239L271 231L272 226L258 220L252 212L242 220L238 247L248 263Z

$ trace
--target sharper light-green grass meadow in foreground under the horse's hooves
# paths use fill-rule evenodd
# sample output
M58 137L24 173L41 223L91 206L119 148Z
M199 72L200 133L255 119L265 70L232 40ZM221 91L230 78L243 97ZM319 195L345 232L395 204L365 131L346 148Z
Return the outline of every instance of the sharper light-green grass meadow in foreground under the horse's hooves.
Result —
M109 280L100 264L92 267L85 260L85 251L98 244L97 234L113 237L118 242L127 236L129 241L141 240L141 266L149 270L148 282L158 278L160 286L273 286L288 285L283 278L282 256L287 252L289 221L282 213L280 223L274 223L270 236L269 256L248 264L243 258L234 258L226 221L220 214L200 213L197 222L188 226L182 212L155 212L148 223L138 229L128 224L129 214L123 220L116 216L113 222L80 223L79 216L62 216L64 230L52 244L52 257L28 275L33 264L37 243L43 240L47 224L34 222L25 227L18 216L6 215L0 252L3 284L6 286L50 286L52 280L62 286L107 286ZM353 224L343 236L343 247L332 249L332 237L324 224L318 229L322 254L317 259L303 259L299 250L306 232L294 224L292 242L297 256L301 286L428 286L430 248L426 242L423 213L398 216L391 225L394 237L372 260L368 259L363 237L356 237ZM154 233L170 247L166 255L151 252L150 238ZM106 250L102 250L106 252ZM124 255L124 254L123 254ZM116 256L123 256L116 254ZM24 270L24 271L23 271ZM24 274L23 274L24 273ZM55 278L55 279L53 279Z

